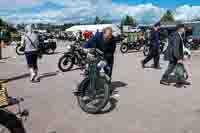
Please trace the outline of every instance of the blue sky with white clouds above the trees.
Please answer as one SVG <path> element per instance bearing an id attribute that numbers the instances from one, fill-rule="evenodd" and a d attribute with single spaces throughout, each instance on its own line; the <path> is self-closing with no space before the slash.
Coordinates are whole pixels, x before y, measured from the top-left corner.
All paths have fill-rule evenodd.
<path id="1" fill-rule="evenodd" d="M 0 16 L 12 23 L 90 22 L 95 16 L 118 21 L 126 14 L 154 23 L 167 9 L 177 20 L 200 18 L 199 0 L 1 0 Z"/>

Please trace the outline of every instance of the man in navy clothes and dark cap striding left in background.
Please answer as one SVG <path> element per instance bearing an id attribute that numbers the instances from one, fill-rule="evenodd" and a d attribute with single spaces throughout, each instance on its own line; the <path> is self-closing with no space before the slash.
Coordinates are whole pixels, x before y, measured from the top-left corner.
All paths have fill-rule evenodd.
<path id="1" fill-rule="evenodd" d="M 156 23 L 151 31 L 150 35 L 150 49 L 148 56 L 141 62 L 142 67 L 145 68 L 145 64 L 154 59 L 153 67 L 160 68 L 160 22 Z"/>

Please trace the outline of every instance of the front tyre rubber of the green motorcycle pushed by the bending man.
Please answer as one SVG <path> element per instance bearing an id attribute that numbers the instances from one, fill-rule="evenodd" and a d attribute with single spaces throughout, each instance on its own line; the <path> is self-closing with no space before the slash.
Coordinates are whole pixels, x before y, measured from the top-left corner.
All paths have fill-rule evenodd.
<path id="1" fill-rule="evenodd" d="M 110 99 L 110 86 L 109 83 L 106 81 L 105 78 L 101 77 L 99 78 L 99 85 L 101 85 L 103 88 L 99 89 L 98 91 L 101 92 L 102 94 L 104 94 L 102 101 L 98 102 L 98 106 L 94 105 L 95 107 L 89 107 L 83 98 L 85 96 L 87 96 L 89 93 L 88 92 L 88 86 L 89 86 L 89 79 L 85 78 L 81 84 L 78 87 L 78 92 L 79 95 L 77 95 L 77 101 L 78 101 L 78 105 L 80 106 L 80 108 L 89 114 L 97 114 L 99 113 L 108 103 L 109 99 Z M 99 86 L 97 85 L 97 86 Z"/>

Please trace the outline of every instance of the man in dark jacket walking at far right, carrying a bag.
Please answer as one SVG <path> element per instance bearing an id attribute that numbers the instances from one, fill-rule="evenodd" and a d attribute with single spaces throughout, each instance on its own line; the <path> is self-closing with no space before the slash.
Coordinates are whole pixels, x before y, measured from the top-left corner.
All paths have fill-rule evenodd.
<path id="1" fill-rule="evenodd" d="M 169 61 L 169 65 L 167 70 L 162 76 L 160 84 L 169 85 L 171 82 L 175 82 L 178 84 L 190 85 L 189 82 L 185 80 L 181 81 L 170 81 L 170 74 L 174 71 L 176 65 L 178 63 L 183 64 L 184 59 L 184 52 L 183 52 L 183 45 L 184 40 L 182 35 L 185 32 L 184 24 L 178 24 L 176 26 L 176 32 L 170 35 L 169 37 L 169 44 L 164 53 L 165 59 Z"/>

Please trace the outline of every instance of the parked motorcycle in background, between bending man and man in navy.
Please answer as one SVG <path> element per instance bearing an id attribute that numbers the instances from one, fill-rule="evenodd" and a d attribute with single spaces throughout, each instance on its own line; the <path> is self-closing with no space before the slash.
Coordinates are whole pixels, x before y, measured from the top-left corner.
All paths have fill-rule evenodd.
<path id="1" fill-rule="evenodd" d="M 139 51 L 145 44 L 145 40 L 141 39 L 141 40 L 137 40 L 134 42 L 127 42 L 127 41 L 123 41 L 122 45 L 120 46 L 120 51 L 124 54 L 127 53 L 128 50 L 137 50 Z"/>

